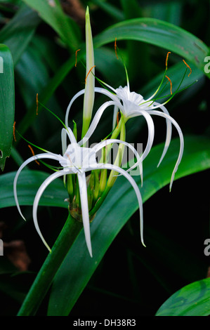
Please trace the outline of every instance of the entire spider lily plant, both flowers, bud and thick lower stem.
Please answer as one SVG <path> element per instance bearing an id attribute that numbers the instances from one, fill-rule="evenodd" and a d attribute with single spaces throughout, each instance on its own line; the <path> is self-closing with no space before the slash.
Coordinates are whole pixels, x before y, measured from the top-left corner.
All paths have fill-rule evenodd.
<path id="1" fill-rule="evenodd" d="M 166 70 L 168 55 L 166 57 Z M 160 89 L 162 88 L 162 90 L 164 90 L 165 78 L 167 79 L 167 83 L 170 82 L 171 84 L 171 80 L 166 76 L 166 70 L 161 84 L 157 88 L 157 91 L 150 98 L 145 100 L 142 95 L 130 90 L 127 72 L 127 84 L 124 87 L 119 86 L 115 89 L 105 84 L 103 81 L 100 81 L 99 79 L 98 81 L 100 81 L 100 84 L 103 84 L 103 88 L 96 87 L 94 67 L 93 40 L 87 8 L 86 84 L 83 90 L 74 95 L 67 107 L 65 124 L 62 122 L 63 128 L 61 130 L 61 154 L 55 154 L 48 150 L 39 148 L 42 150 L 42 152 L 37 155 L 34 154 L 32 157 L 27 159 L 20 166 L 20 169 L 18 169 L 14 180 L 15 202 L 18 206 L 20 215 L 25 219 L 22 211 L 20 211 L 20 206 L 18 203 L 17 190 L 18 177 L 20 172 L 25 168 L 25 166 L 27 166 L 27 164 L 31 163 L 32 161 L 39 160 L 43 162 L 43 159 L 52 159 L 58 163 L 58 167 L 49 166 L 47 164 L 48 167 L 51 167 L 54 173 L 48 176 L 44 183 L 40 185 L 39 190 L 37 191 L 37 194 L 34 198 L 32 211 L 35 228 L 50 253 L 48 253 L 48 256 L 41 270 L 39 271 L 34 284 L 32 284 L 29 293 L 27 293 L 27 297 L 25 298 L 25 301 L 22 304 L 18 315 L 31 315 L 34 312 L 34 309 L 39 306 L 40 301 L 44 298 L 44 295 L 48 291 L 48 288 L 51 285 L 56 272 L 60 268 L 61 263 L 63 263 L 67 252 L 70 250 L 72 244 L 74 244 L 77 235 L 79 235 L 81 228 L 84 228 L 84 239 L 88 253 L 91 257 L 94 256 L 94 251 L 92 251 L 91 244 L 90 222 L 94 219 L 94 216 L 100 208 L 100 205 L 105 200 L 108 192 L 110 192 L 110 189 L 114 185 L 115 180 L 117 180 L 117 176 L 124 176 L 126 180 L 129 180 L 129 183 L 131 184 L 131 187 L 133 187 L 133 190 L 136 194 L 140 211 L 140 239 L 142 244 L 145 245 L 143 239 L 143 202 L 141 199 L 140 188 L 136 184 L 136 181 L 133 179 L 131 174 L 133 169 L 138 168 L 139 174 L 141 176 L 141 184 L 143 185 L 142 164 L 143 160 L 145 157 L 147 157 L 151 150 L 155 135 L 155 125 L 152 120 L 152 115 L 163 117 L 166 120 L 166 142 L 162 156 L 159 160 L 159 164 L 161 163 L 166 154 L 166 151 L 169 148 L 172 125 L 176 127 L 180 138 L 180 152 L 178 154 L 178 159 L 171 175 L 170 189 L 173 183 L 173 178 L 178 169 L 178 164 L 180 164 L 183 155 L 184 141 L 181 128 L 166 110 L 166 102 L 162 104 L 157 102 L 157 100 L 159 100 Z M 181 84 L 178 86 L 174 93 L 169 95 L 167 102 L 171 100 L 173 95 L 176 95 L 178 91 L 182 90 L 179 89 L 180 87 Z M 109 100 L 100 105 L 95 115 L 93 116 L 92 113 L 95 93 L 102 93 L 103 95 L 106 95 Z M 68 123 L 72 104 L 80 95 L 84 95 L 81 140 L 77 139 L 77 125 L 74 123 L 74 129 L 72 130 Z M 112 133 L 109 134 L 110 132 L 107 132 L 106 137 L 102 141 L 89 147 L 89 139 L 94 137 L 96 127 L 98 124 L 100 124 L 100 118 L 102 117 L 107 107 L 110 106 L 114 107 Z M 126 122 L 129 121 L 129 119 L 138 116 L 141 116 L 145 119 L 148 128 L 147 143 L 142 154 L 138 154 L 134 147 L 126 142 Z M 117 154 L 113 161 L 112 159 L 110 161 L 109 157 L 111 154 L 111 148 L 115 144 L 117 144 L 118 147 Z M 36 147 L 36 145 L 34 146 Z M 134 159 L 136 159 L 135 164 L 132 164 L 131 167 L 127 166 L 129 169 L 126 170 L 122 168 L 122 157 L 125 147 L 128 147 L 129 150 L 133 152 L 135 157 Z M 101 154 L 98 155 L 98 152 L 101 152 Z M 37 208 L 39 205 L 39 200 L 41 199 L 42 194 L 44 194 L 46 187 L 48 187 L 48 185 L 50 185 L 53 180 L 60 177 L 63 177 L 64 185 L 67 188 L 67 195 L 69 197 L 67 199 L 69 202 L 69 212 L 63 230 L 60 232 L 58 239 L 56 239 L 55 244 L 53 244 L 53 247 L 51 248 L 46 242 L 46 239 L 44 239 L 44 236 L 42 235 L 39 228 Z"/>

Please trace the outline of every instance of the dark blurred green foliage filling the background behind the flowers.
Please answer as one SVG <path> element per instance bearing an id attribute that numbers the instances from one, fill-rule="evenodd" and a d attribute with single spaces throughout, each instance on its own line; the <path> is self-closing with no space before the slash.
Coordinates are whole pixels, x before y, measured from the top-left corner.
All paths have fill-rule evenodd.
<path id="1" fill-rule="evenodd" d="M 36 95 L 38 93 L 41 103 L 64 119 L 70 99 L 84 88 L 85 69 L 79 61 L 85 60 L 87 5 L 96 46 L 96 75 L 107 84 L 114 88 L 126 84 L 124 65 L 114 54 L 115 37 L 126 62 L 131 90 L 145 96 L 152 94 L 162 79 L 167 51 L 171 51 L 168 72 L 173 86 L 177 86 L 183 77 L 183 58 L 192 68 L 185 85 L 198 80 L 167 105 L 183 135 L 192 137 L 190 150 L 195 147 L 200 152 L 197 173 L 188 176 L 190 171 L 187 171 L 184 178 L 176 180 L 170 194 L 168 187 L 163 187 L 145 202 L 147 249 L 140 246 L 138 213 L 133 207 L 130 220 L 101 258 L 86 288 L 81 289 L 81 296 L 70 314 L 155 315 L 175 291 L 207 277 L 210 266 L 209 257 L 204 255 L 204 240 L 210 235 L 209 192 L 206 192 L 209 184 L 210 83 L 208 72 L 204 72 L 204 58 L 209 55 L 210 45 L 210 4 L 208 0 L 1 0 L 0 43 L 8 46 L 13 56 L 16 126 L 27 140 L 56 153 L 61 152 L 60 122 L 41 107 L 37 116 Z M 133 25 L 136 22 L 133 19 L 140 20 Z M 132 25 L 129 22 L 127 26 L 125 22 L 129 20 L 132 20 Z M 139 27 L 142 29 L 136 32 Z M 75 67 L 78 48 L 81 51 Z M 105 99 L 96 96 L 95 110 Z M 70 116 L 77 122 L 79 134 L 82 107 L 81 98 L 72 107 Z M 158 147 L 165 138 L 165 123 L 159 119 L 155 119 L 155 123 L 155 144 Z M 73 123 L 69 124 L 72 128 Z M 147 127 L 144 121 L 131 119 L 128 124 L 128 142 L 145 143 Z M 104 115 L 96 131 L 97 141 L 93 142 L 107 136 L 107 128 L 112 130 L 112 118 Z M 4 301 L 0 315 L 16 315 L 47 253 L 34 230 L 31 202 L 23 203 L 29 219 L 27 223 L 23 223 L 18 211 L 12 207 L 9 190 L 12 173 L 31 155 L 27 143 L 18 136 L 16 140 L 0 178 L 0 238 L 7 244 L 5 256 L 0 257 L 0 293 L 1 301 Z M 189 167 L 193 157 L 189 159 Z M 48 172 L 36 163 L 30 169 L 36 173 Z M 164 167 L 160 175 L 164 178 Z M 36 182 L 33 184 L 35 187 Z M 2 191 L 4 185 L 8 185 L 8 192 Z M 58 186 L 56 189 L 63 196 L 60 183 Z M 26 190 L 23 192 L 27 195 Z M 8 197 L 5 204 L 4 194 Z M 52 209 L 49 207 L 50 199 L 42 204 L 46 207 L 40 206 L 39 218 L 45 235 L 53 244 L 63 227 L 66 209 L 58 207 L 62 206 L 59 203 Z M 115 208 L 117 214 L 117 205 Z M 26 250 L 13 247 L 11 243 L 17 240 L 24 242 Z M 38 315 L 46 315 L 48 299 L 49 296 L 42 303 Z"/>

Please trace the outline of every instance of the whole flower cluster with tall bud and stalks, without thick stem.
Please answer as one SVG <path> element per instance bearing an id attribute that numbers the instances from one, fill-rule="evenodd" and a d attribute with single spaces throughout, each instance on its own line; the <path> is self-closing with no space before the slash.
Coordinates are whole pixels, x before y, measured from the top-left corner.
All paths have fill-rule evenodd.
<path id="1" fill-rule="evenodd" d="M 166 70 L 168 63 L 169 53 L 166 57 Z M 185 63 L 186 64 L 186 63 Z M 129 174 L 131 170 L 135 167 L 139 167 L 141 181 L 143 183 L 143 170 L 142 170 L 142 162 L 147 154 L 149 154 L 153 140 L 155 135 L 155 126 L 152 120 L 152 115 L 164 117 L 166 120 L 166 142 L 164 145 L 164 150 L 162 152 L 162 157 L 159 160 L 159 164 L 164 158 L 166 151 L 168 150 L 170 141 L 171 141 L 171 126 L 176 127 L 178 131 L 178 135 L 180 138 L 180 152 L 178 154 L 178 159 L 176 161 L 176 165 L 173 169 L 173 173 L 171 175 L 171 185 L 173 183 L 173 179 L 175 173 L 178 169 L 178 164 L 181 162 L 181 158 L 183 155 L 184 141 L 183 141 L 183 133 L 181 128 L 178 126 L 177 122 L 169 115 L 169 112 L 166 110 L 164 105 L 171 100 L 173 95 L 178 93 L 181 84 L 178 86 L 178 89 L 175 93 L 169 95 L 169 99 L 165 103 L 157 103 L 157 99 L 159 98 L 159 90 L 164 83 L 164 79 L 167 78 L 167 83 L 170 82 L 171 79 L 166 76 L 166 70 L 164 73 L 164 77 L 162 79 L 161 84 L 157 88 L 157 91 L 147 100 L 143 98 L 142 95 L 131 92 L 129 85 L 129 78 L 126 72 L 127 85 L 119 88 L 112 88 L 111 86 L 103 83 L 100 83 L 105 86 L 105 88 L 95 87 L 95 72 L 94 72 L 94 53 L 93 53 L 93 40 L 91 35 L 91 24 L 88 13 L 88 8 L 86 11 L 86 86 L 84 90 L 79 91 L 72 100 L 70 101 L 69 106 L 67 107 L 67 112 L 65 116 L 65 124 L 63 124 L 64 128 L 61 132 L 61 140 L 62 140 L 62 154 L 54 154 L 53 152 L 48 152 L 47 150 L 43 150 L 44 153 L 34 155 L 25 161 L 20 169 L 18 170 L 15 180 L 14 180 L 14 195 L 15 202 L 18 206 L 18 211 L 22 218 L 22 212 L 20 211 L 20 206 L 18 204 L 18 194 L 17 194 L 17 181 L 20 171 L 29 164 L 31 161 L 37 161 L 37 159 L 53 159 L 58 161 L 60 167 L 55 169 L 55 173 L 51 174 L 44 183 L 41 184 L 39 190 L 37 192 L 36 197 L 34 198 L 33 205 L 33 219 L 34 225 L 41 237 L 42 241 L 46 245 L 47 249 L 51 251 L 50 246 L 46 243 L 43 235 L 41 234 L 41 230 L 39 229 L 38 221 L 37 221 L 37 207 L 39 204 L 39 199 L 41 195 L 44 193 L 46 187 L 53 181 L 55 178 L 59 178 L 60 176 L 64 177 L 64 183 L 67 187 L 67 192 L 69 195 L 69 210 L 72 218 L 81 221 L 84 227 L 84 236 L 86 239 L 86 245 L 88 247 L 88 251 L 90 256 L 93 255 L 92 247 L 91 247 L 91 231 L 90 231 L 90 221 L 93 220 L 96 211 L 103 203 L 107 193 L 110 191 L 112 186 L 114 185 L 115 180 L 118 175 L 124 176 L 136 192 L 136 197 L 138 199 L 138 206 L 140 210 L 140 238 L 141 242 L 143 241 L 143 205 L 142 199 L 140 195 L 140 190 L 136 185 L 135 180 L 133 180 L 132 176 Z M 187 67 L 189 67 L 187 65 Z M 188 69 L 188 68 L 187 68 Z M 184 75 L 185 76 L 185 75 Z M 183 77 L 184 78 L 184 77 Z M 183 79 L 182 79 L 183 81 Z M 182 83 L 181 81 L 181 83 Z M 108 90 L 108 89 L 109 90 Z M 171 84 L 172 88 L 172 84 Z M 103 93 L 110 100 L 107 100 L 103 105 L 101 105 L 96 111 L 95 116 L 92 119 L 93 112 L 93 104 L 94 104 L 94 96 L 95 92 Z M 72 103 L 76 100 L 80 95 L 84 94 L 84 110 L 83 110 L 83 126 L 81 133 L 81 140 L 77 141 L 77 126 L 74 125 L 74 131 L 68 125 L 68 117 L 70 115 L 70 109 L 72 107 Z M 114 106 L 114 116 L 113 116 L 113 127 L 111 138 L 105 138 L 100 143 L 97 143 L 93 147 L 88 147 L 87 143 L 89 138 L 93 136 L 93 133 L 98 126 L 100 118 L 103 115 L 103 112 L 107 109 L 107 107 Z M 118 117 L 120 114 L 120 120 Z M 145 118 L 147 122 L 148 128 L 148 138 L 147 145 L 143 154 L 139 155 L 138 152 L 133 148 L 133 146 L 129 143 L 126 143 L 126 128 L 125 124 L 130 118 L 142 116 Z M 108 132 L 107 132 L 108 133 Z M 117 139 L 119 137 L 119 139 Z M 114 164 L 108 161 L 110 148 L 114 143 L 119 144 L 117 155 L 114 159 Z M 137 161 L 133 166 L 131 166 L 126 171 L 122 169 L 122 155 L 124 153 L 124 147 L 129 147 L 129 149 L 133 152 Z M 97 161 L 97 152 L 102 150 L 102 157 Z M 158 164 L 158 166 L 159 166 Z M 88 175 L 87 175 L 88 173 Z"/>

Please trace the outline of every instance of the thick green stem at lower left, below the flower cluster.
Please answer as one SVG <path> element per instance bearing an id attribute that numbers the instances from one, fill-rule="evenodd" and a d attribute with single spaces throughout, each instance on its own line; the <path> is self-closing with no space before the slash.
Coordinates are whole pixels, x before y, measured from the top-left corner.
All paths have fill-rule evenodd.
<path id="1" fill-rule="evenodd" d="M 34 283 L 27 293 L 25 301 L 22 303 L 18 316 L 35 315 L 41 301 L 44 299 L 44 296 L 53 282 L 58 268 L 60 268 L 67 252 L 79 235 L 81 228 L 82 223 L 72 218 L 69 213 L 63 230 L 61 230 L 58 239 L 56 239 L 51 253 L 46 257 L 41 270 L 39 270 Z"/>

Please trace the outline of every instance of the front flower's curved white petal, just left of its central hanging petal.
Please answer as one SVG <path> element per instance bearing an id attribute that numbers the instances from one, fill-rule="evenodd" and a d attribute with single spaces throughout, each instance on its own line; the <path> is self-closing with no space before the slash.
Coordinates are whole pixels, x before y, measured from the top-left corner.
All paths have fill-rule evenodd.
<path id="1" fill-rule="evenodd" d="M 62 170 L 62 171 L 51 174 L 51 176 L 49 176 L 46 180 L 44 180 L 44 183 L 41 184 L 41 186 L 39 187 L 39 190 L 37 191 L 36 197 L 34 198 L 34 205 L 33 205 L 34 225 L 35 225 L 35 228 L 36 228 L 39 236 L 41 237 L 42 242 L 44 243 L 44 245 L 50 252 L 51 252 L 51 248 L 46 243 L 46 240 L 44 239 L 43 235 L 41 234 L 41 230 L 39 229 L 38 220 L 37 220 L 37 208 L 38 208 L 38 204 L 39 204 L 39 199 L 41 198 L 41 195 L 43 194 L 46 187 L 48 187 L 48 185 L 53 180 L 55 180 L 56 178 L 59 178 L 60 176 L 65 175 L 66 173 L 67 173 L 66 171 Z M 69 173 L 72 173 L 72 171 L 69 171 Z"/>

